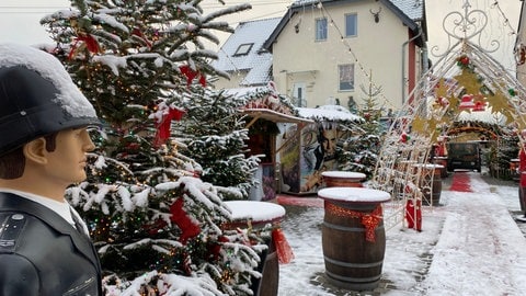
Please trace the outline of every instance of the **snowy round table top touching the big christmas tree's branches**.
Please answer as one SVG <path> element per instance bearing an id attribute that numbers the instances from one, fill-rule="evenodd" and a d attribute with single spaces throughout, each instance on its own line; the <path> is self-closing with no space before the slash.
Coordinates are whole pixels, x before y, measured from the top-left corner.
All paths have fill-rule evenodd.
<path id="1" fill-rule="evenodd" d="M 278 204 L 255 201 L 229 201 L 233 220 L 274 221 L 285 216 L 285 208 Z"/>

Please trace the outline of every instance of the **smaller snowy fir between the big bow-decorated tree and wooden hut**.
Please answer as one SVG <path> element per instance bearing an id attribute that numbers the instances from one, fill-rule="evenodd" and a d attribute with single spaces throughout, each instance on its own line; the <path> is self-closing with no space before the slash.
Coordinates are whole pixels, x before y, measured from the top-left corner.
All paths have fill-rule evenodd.
<path id="1" fill-rule="evenodd" d="M 195 88 L 192 98 L 184 101 L 184 122 L 174 125 L 175 135 L 185 144 L 184 153 L 203 167 L 203 181 L 242 192 L 242 196 L 225 200 L 247 200 L 255 185 L 260 158 L 247 148 L 249 129 L 240 113 L 245 104 L 247 99 L 225 90 Z"/>

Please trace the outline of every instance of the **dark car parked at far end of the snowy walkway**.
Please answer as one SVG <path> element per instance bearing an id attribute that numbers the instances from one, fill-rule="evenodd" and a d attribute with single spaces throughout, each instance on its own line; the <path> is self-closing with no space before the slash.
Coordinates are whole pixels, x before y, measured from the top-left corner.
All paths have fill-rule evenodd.
<path id="1" fill-rule="evenodd" d="M 477 170 L 480 172 L 481 157 L 479 143 L 447 144 L 447 170 L 454 171 L 456 169 Z"/>

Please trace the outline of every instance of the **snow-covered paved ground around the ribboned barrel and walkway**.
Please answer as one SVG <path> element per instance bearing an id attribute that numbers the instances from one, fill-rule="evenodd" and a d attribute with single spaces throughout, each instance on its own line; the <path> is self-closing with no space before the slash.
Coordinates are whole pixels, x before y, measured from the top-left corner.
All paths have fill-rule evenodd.
<path id="1" fill-rule="evenodd" d="M 424 210 L 422 232 L 401 227 L 387 231 L 381 281 L 371 292 L 327 283 L 320 200 L 301 197 L 310 205 L 284 205 L 282 227 L 295 260 L 279 266 L 279 296 L 526 295 L 526 239 L 521 230 L 526 224 L 514 220 L 517 184 L 468 173 L 473 192 L 449 191 L 451 177 L 444 180 L 441 206 Z"/>

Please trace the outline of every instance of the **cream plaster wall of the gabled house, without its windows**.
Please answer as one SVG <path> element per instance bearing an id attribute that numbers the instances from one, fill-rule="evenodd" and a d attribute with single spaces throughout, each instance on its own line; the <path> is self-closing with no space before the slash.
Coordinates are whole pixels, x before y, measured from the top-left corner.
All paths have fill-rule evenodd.
<path id="1" fill-rule="evenodd" d="M 376 23 L 370 11 L 377 12 L 380 8 Z M 302 83 L 308 107 L 333 103 L 334 99 L 347 106 L 350 96 L 363 106 L 368 94 L 361 86 L 368 90 L 371 78 L 373 83 L 382 89 L 381 95 L 376 96 L 378 104 L 386 112 L 400 109 L 404 100 L 402 93 L 408 94 L 407 89 L 402 92 L 402 83 L 404 88 L 408 86 L 408 66 L 402 77 L 402 47 L 409 39 L 408 27 L 377 1 L 325 5 L 325 10 L 309 7 L 293 15 L 273 45 L 273 76 L 278 91 L 294 96 L 296 86 Z M 353 13 L 357 15 L 357 34 L 342 39 L 344 15 Z M 328 37 L 316 41 L 316 20 L 321 18 L 328 19 Z M 408 64 L 408 46 L 403 49 Z M 341 91 L 339 66 L 348 64 L 354 65 L 354 90 Z M 415 68 L 420 68 L 420 61 Z"/>

